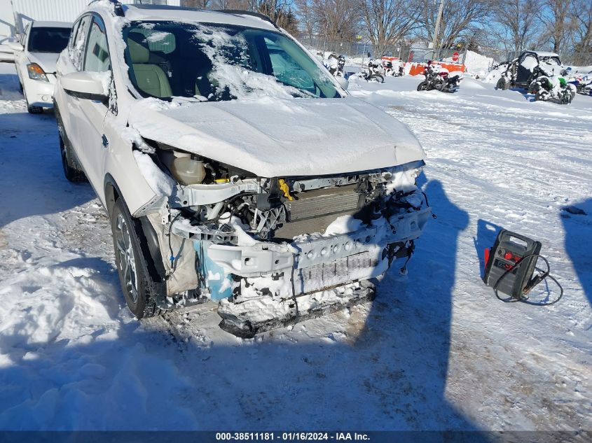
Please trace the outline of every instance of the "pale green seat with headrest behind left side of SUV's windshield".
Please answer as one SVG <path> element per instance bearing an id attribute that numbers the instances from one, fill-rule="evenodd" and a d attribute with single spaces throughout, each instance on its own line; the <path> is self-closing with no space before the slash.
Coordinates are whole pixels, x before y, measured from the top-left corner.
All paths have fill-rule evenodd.
<path id="1" fill-rule="evenodd" d="M 169 79 L 158 64 L 149 63 L 150 50 L 132 38 L 128 38 L 128 50 L 134 71 L 135 86 L 152 97 L 170 97 L 172 91 Z"/>

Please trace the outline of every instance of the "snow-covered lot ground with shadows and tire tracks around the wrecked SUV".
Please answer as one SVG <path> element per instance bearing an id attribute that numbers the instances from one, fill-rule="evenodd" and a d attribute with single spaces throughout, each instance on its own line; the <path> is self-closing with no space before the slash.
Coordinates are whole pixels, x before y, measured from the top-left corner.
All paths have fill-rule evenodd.
<path id="1" fill-rule="evenodd" d="M 214 304 L 130 316 L 104 211 L 63 178 L 53 113 L 27 114 L 0 64 L 0 429 L 591 429 L 592 97 L 420 80 L 350 83 L 429 156 L 438 218 L 408 276 L 242 340 Z M 497 227 L 543 242 L 563 300 L 504 304 L 483 285 Z"/>

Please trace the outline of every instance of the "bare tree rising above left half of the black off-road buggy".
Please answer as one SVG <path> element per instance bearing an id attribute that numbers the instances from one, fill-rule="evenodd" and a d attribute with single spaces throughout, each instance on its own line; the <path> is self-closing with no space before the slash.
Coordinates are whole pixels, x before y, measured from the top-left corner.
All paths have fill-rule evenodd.
<path id="1" fill-rule="evenodd" d="M 537 12 L 540 4 L 537 0 L 495 1 L 492 13 L 495 24 L 494 34 L 506 46 L 506 50 L 515 54 L 528 49 L 539 31 Z"/>

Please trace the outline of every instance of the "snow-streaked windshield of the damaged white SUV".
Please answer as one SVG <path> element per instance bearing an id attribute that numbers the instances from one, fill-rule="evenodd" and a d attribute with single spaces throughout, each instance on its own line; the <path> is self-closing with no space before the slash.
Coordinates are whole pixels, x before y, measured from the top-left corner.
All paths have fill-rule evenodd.
<path id="1" fill-rule="evenodd" d="M 327 71 L 291 38 L 274 31 L 132 22 L 123 38 L 130 80 L 144 97 L 341 97 Z"/>

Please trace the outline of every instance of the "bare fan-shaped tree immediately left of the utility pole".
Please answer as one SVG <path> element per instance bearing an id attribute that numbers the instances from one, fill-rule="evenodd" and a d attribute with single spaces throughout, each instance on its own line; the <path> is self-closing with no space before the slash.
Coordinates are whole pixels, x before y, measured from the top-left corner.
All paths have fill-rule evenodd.
<path id="1" fill-rule="evenodd" d="M 420 12 L 420 2 L 414 0 L 362 0 L 366 31 L 376 55 L 401 41 L 416 26 Z"/>

